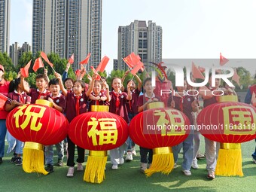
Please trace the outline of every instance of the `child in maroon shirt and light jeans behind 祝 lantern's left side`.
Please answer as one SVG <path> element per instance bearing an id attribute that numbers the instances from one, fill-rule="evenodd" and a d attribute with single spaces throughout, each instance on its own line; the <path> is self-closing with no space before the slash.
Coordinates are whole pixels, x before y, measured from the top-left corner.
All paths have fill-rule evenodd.
<path id="1" fill-rule="evenodd" d="M 25 87 L 29 87 L 28 82 L 24 81 L 24 83 Z M 10 98 L 12 101 L 8 100 L 6 102 L 6 111 L 11 111 L 17 106 L 30 104 L 31 97 L 28 96 L 21 88 L 20 78 L 16 78 L 14 81 L 11 81 L 9 91 L 10 93 L 8 93 L 8 98 Z M 7 153 L 14 151 L 14 156 L 11 158 L 11 163 L 21 166 L 23 164 L 21 155 L 23 154 L 24 143 L 18 139 L 15 139 L 14 136 L 11 136 L 9 132 L 7 132 L 7 140 L 9 144 Z"/>

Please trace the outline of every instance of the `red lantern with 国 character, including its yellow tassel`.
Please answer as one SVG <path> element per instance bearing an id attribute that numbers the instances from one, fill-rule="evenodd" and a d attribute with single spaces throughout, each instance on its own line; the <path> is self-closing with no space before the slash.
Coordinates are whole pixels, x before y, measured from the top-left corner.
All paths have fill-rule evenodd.
<path id="1" fill-rule="evenodd" d="M 207 106 L 198 114 L 200 133 L 221 142 L 216 175 L 243 175 L 240 143 L 256 138 L 255 111 L 253 106 L 237 102 L 236 96 L 221 96 L 218 103 Z"/>

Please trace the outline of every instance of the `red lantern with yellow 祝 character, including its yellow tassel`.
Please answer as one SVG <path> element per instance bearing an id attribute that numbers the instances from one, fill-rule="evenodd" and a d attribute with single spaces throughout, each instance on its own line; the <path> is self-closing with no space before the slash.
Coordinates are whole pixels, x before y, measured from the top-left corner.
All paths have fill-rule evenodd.
<path id="1" fill-rule="evenodd" d="M 23 150 L 23 169 L 25 172 L 41 172 L 44 170 L 44 151 L 42 145 L 54 145 L 66 138 L 69 122 L 66 117 L 54 108 L 50 108 L 51 103 L 38 99 L 37 104 L 23 105 L 14 108 L 7 117 L 6 126 L 12 136 L 22 142 L 26 142 Z M 32 154 L 26 154 L 27 148 L 33 148 L 38 153 L 38 158 L 42 153 L 42 166 L 33 168 Z M 30 151 L 29 153 L 32 153 Z M 33 151 L 35 154 L 35 151 Z M 38 159 L 38 161 L 40 161 Z M 38 163 L 40 164 L 40 163 Z M 36 167 L 36 166 L 35 166 Z"/>

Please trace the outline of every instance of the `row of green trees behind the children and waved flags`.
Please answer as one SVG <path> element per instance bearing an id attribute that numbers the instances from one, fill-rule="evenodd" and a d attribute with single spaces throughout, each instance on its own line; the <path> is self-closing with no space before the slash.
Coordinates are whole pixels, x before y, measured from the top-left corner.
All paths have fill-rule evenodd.
<path id="1" fill-rule="evenodd" d="M 20 71 L 20 68 L 23 68 L 24 66 L 26 66 L 26 64 L 29 62 L 30 59 L 32 59 L 32 63 L 35 62 L 35 59 L 37 59 L 40 56 L 40 52 L 36 53 L 35 56 L 32 56 L 31 52 L 25 52 L 23 53 L 23 55 L 21 56 L 18 65 L 16 67 L 14 67 L 11 58 L 8 56 L 7 53 L 0 53 L 0 63 L 2 64 L 2 66 L 5 67 L 5 79 L 7 79 L 8 81 L 13 80 L 14 78 L 17 77 L 17 73 Z M 55 69 L 56 72 L 58 72 L 59 74 L 62 74 L 65 69 L 66 69 L 66 63 L 68 62 L 67 59 L 61 59 L 59 58 L 59 55 L 57 55 L 56 53 L 50 53 L 47 55 L 50 62 L 53 63 L 53 68 Z M 26 80 L 29 82 L 29 85 L 31 87 L 35 87 L 35 76 L 37 74 L 41 74 L 44 72 L 44 69 L 38 69 L 38 71 L 35 73 L 32 70 L 32 66 L 29 69 L 29 78 L 27 78 Z M 53 70 L 50 68 L 50 66 L 44 62 L 44 67 L 48 70 L 48 76 L 49 78 L 54 78 L 53 75 Z M 185 71 L 185 69 L 184 69 Z M 248 70 L 246 70 L 243 67 L 239 67 L 236 69 L 240 80 L 239 83 L 242 86 L 238 86 L 236 83 L 233 82 L 233 84 L 236 85 L 236 90 L 247 90 L 248 86 L 251 84 L 255 84 L 256 80 L 254 77 L 251 77 L 251 73 L 248 72 Z M 90 75 L 93 75 L 93 72 L 89 72 Z M 110 74 L 107 75 L 106 72 L 99 72 L 99 75 L 107 78 L 107 82 L 110 85 L 111 84 L 111 79 L 114 77 L 119 77 L 122 78 L 124 75 L 124 71 L 120 71 L 120 70 L 112 70 Z M 69 69 L 69 78 L 73 78 L 75 79 L 75 72 L 72 70 L 72 68 Z M 167 71 L 167 76 L 168 79 L 170 81 L 172 81 L 173 84 L 175 84 L 175 72 L 172 72 L 170 69 Z M 139 73 L 139 77 L 142 79 L 142 77 L 145 77 L 145 72 L 143 73 Z M 124 84 L 126 85 L 126 81 L 128 81 L 129 79 L 133 78 L 132 74 L 127 75 L 126 80 L 124 81 Z M 136 78 L 134 78 L 136 79 Z M 85 82 L 88 82 L 87 79 L 87 75 L 84 76 L 83 80 Z"/>

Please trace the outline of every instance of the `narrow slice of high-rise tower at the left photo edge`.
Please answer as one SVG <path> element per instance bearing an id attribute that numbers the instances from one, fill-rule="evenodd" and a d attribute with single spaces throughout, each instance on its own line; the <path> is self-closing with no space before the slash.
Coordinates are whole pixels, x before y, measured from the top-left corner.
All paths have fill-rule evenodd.
<path id="1" fill-rule="evenodd" d="M 9 53 L 11 0 L 0 0 L 0 52 Z"/>

